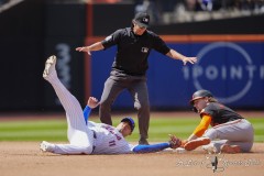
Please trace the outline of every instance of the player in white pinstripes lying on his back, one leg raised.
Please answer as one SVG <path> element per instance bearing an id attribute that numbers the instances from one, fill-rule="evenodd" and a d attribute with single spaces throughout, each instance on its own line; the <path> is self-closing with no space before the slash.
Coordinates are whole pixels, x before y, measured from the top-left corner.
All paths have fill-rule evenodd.
<path id="1" fill-rule="evenodd" d="M 99 105 L 98 100 L 90 97 L 82 112 L 77 99 L 58 79 L 55 65 L 56 56 L 48 57 L 43 77 L 53 86 L 66 111 L 69 144 L 52 144 L 43 141 L 41 143 L 42 151 L 56 154 L 125 154 L 157 152 L 167 147 L 176 148 L 180 145 L 180 140 L 176 136 L 170 136 L 169 142 L 165 143 L 130 145 L 124 138 L 134 130 L 135 124 L 132 118 L 122 119 L 117 128 L 88 121 L 91 109 Z"/>

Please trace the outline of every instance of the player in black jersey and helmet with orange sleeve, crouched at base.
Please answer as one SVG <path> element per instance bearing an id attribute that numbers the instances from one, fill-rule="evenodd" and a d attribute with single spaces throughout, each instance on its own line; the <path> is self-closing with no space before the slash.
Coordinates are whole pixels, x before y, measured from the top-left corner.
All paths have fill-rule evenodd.
<path id="1" fill-rule="evenodd" d="M 201 121 L 188 140 L 182 143 L 185 150 L 193 151 L 204 145 L 208 152 L 250 152 L 254 130 L 248 120 L 219 103 L 208 90 L 196 91 L 190 105 L 200 114 Z M 212 128 L 207 130 L 209 124 Z"/>

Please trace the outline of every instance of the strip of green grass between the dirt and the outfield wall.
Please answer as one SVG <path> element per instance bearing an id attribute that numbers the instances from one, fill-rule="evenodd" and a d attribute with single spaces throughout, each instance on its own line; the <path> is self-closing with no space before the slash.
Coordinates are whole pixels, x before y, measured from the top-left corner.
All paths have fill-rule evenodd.
<path id="1" fill-rule="evenodd" d="M 92 121 L 99 122 L 98 119 Z M 120 119 L 113 119 L 117 125 Z M 255 142 L 264 142 L 264 118 L 249 119 L 255 130 Z M 138 121 L 135 121 L 138 124 Z M 186 139 L 199 123 L 198 118 L 153 118 L 150 125 L 150 142 L 167 141 L 168 134 Z M 128 138 L 135 142 L 139 129 Z M 67 141 L 67 123 L 65 120 L 43 121 L 2 121 L 0 122 L 0 141 Z"/>

